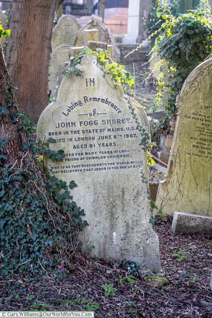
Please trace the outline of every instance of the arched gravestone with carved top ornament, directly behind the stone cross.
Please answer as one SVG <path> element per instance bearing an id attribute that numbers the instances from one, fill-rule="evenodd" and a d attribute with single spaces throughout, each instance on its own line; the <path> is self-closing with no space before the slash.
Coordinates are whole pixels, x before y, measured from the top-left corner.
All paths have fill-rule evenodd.
<path id="1" fill-rule="evenodd" d="M 95 21 L 96 22 L 96 21 Z M 113 56 L 115 59 L 120 59 L 120 51 L 116 47 L 115 39 L 113 38 L 113 34 L 103 23 L 95 23 L 94 21 L 88 22 L 83 25 L 77 35 L 74 46 L 85 46 L 84 42 L 84 33 L 85 30 L 98 29 L 99 30 L 99 41 L 105 42 L 109 45 L 113 45 Z"/>

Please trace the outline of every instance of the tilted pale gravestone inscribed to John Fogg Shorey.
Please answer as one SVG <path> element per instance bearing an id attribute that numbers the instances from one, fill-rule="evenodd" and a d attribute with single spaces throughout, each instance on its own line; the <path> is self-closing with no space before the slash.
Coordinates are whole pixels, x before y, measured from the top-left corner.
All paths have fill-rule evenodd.
<path id="1" fill-rule="evenodd" d="M 50 148 L 65 152 L 62 161 L 46 165 L 78 185 L 73 199 L 89 224 L 81 236 L 84 251 L 160 270 L 158 237 L 149 224 L 147 155 L 139 146 L 139 129 L 149 134 L 147 115 L 114 87 L 94 56 L 85 55 L 77 68 L 81 76 L 64 77 L 57 101 L 38 121 L 38 137 L 55 139 Z"/>

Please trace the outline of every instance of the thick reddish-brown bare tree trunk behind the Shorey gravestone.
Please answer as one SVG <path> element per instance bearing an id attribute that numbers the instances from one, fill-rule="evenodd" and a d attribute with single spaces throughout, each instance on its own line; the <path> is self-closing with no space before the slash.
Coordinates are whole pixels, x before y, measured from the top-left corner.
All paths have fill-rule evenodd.
<path id="1" fill-rule="evenodd" d="M 64 0 L 13 0 L 7 61 L 20 107 L 37 121 L 48 105 L 48 65 L 55 10 Z"/>

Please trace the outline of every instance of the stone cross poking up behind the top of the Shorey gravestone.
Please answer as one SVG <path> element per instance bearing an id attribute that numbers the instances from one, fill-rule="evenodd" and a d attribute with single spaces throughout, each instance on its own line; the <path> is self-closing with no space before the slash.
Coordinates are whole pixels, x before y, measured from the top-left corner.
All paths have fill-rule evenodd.
<path id="1" fill-rule="evenodd" d="M 113 58 L 113 45 L 109 45 L 105 42 L 99 42 L 99 30 L 85 30 L 84 41 L 85 46 L 70 47 L 69 58 L 76 55 L 78 52 L 82 52 L 86 46 L 88 46 L 92 51 L 95 51 L 97 48 L 107 50 L 110 52 L 111 58 Z"/>

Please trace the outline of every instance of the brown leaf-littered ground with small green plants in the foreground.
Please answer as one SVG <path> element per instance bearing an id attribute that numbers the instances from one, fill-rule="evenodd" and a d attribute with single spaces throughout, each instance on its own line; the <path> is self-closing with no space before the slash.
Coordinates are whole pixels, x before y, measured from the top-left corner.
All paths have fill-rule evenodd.
<path id="1" fill-rule="evenodd" d="M 71 268 L 36 282 L 21 274 L 9 285 L 0 279 L 0 310 L 94 310 L 94 317 L 99 318 L 211 318 L 212 235 L 174 235 L 169 218 L 159 220 L 156 232 L 162 273 L 168 279 L 163 288 L 148 286 L 138 274 L 130 284 L 124 279 L 126 266 L 76 254 Z M 180 256 L 184 257 L 181 261 Z M 113 284 L 114 294 L 105 296 L 103 284 Z"/>

